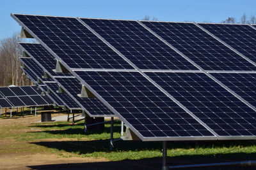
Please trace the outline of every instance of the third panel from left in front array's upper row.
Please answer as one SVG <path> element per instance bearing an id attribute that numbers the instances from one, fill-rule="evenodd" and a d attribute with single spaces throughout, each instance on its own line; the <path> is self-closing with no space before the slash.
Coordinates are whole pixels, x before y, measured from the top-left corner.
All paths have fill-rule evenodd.
<path id="1" fill-rule="evenodd" d="M 142 23 L 205 70 L 256 70 L 253 64 L 193 23 Z"/>

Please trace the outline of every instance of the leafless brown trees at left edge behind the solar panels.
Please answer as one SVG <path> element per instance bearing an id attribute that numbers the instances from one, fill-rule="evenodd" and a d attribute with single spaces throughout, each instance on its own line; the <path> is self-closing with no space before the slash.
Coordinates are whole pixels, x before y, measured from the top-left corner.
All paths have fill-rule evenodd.
<path id="1" fill-rule="evenodd" d="M 22 50 L 19 46 L 21 39 L 17 34 L 11 38 L 5 38 L 0 41 L 0 85 L 30 85 L 31 81 L 22 74 L 20 69 L 21 62 L 19 56 Z"/>

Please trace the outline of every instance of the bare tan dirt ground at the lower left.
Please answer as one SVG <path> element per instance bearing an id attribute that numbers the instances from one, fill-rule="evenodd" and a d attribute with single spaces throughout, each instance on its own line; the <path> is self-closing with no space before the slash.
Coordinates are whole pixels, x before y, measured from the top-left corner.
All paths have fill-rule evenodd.
<path id="1" fill-rule="evenodd" d="M 26 116 L 24 118 L 0 119 L 0 132 L 3 131 L 3 127 L 12 128 L 16 125 L 30 125 L 39 121 L 40 118 L 40 115 L 38 115 L 36 117 Z M 40 129 L 34 130 L 40 131 Z M 10 133 L 22 133 L 26 131 L 31 131 L 31 129 L 14 129 L 13 131 L 10 131 Z M 47 140 L 51 141 L 51 139 Z M 63 140 L 64 139 L 54 139 L 54 141 Z M 67 139 L 65 140 L 67 141 Z M 44 148 L 40 148 L 40 146 L 36 147 L 38 147 L 36 150 L 39 150 L 40 152 L 31 152 L 31 143 L 29 143 L 29 141 L 15 141 L 12 137 L 0 139 L 0 169 L 58 169 L 61 165 L 65 165 L 65 168 L 70 167 L 70 169 L 72 169 L 76 164 L 108 161 L 106 159 L 74 156 L 67 158 L 60 157 L 58 154 L 45 151 Z M 45 167 L 46 165 L 47 167 Z M 54 166 L 51 167 L 51 165 Z M 61 167 L 61 169 L 63 169 L 63 167 Z"/>

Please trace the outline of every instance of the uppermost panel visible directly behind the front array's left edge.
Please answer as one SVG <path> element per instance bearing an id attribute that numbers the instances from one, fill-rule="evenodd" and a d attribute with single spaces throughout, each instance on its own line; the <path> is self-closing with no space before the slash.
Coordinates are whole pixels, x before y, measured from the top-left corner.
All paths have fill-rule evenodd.
<path id="1" fill-rule="evenodd" d="M 38 43 L 20 43 L 30 57 L 41 64 L 52 76 L 71 76 L 70 73 L 55 73 L 56 59 Z"/>

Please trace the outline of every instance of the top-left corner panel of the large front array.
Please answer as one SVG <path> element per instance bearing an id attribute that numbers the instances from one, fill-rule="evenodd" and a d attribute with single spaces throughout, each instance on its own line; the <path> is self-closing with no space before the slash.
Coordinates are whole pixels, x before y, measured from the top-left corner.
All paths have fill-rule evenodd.
<path id="1" fill-rule="evenodd" d="M 14 16 L 71 68 L 133 69 L 76 18 Z"/>

